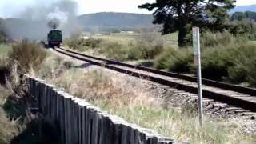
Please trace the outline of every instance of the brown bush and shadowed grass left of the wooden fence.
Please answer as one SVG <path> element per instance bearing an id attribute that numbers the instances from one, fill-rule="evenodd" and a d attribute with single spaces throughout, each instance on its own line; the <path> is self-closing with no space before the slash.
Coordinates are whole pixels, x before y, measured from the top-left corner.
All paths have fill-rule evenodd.
<path id="1" fill-rule="evenodd" d="M 46 52 L 36 43 L 0 46 L 0 143 L 60 143 L 52 122 L 26 110 L 32 101 L 22 93 L 23 70 L 37 71 Z M 19 64 L 19 66 L 18 66 Z M 35 66 L 37 65 L 37 66 Z M 31 66 L 31 69 L 26 67 Z M 7 71 L 10 73 L 6 73 Z M 7 74 L 7 75 L 5 75 Z M 5 81 L 5 82 L 3 82 Z M 33 115 L 32 117 L 30 117 Z"/>

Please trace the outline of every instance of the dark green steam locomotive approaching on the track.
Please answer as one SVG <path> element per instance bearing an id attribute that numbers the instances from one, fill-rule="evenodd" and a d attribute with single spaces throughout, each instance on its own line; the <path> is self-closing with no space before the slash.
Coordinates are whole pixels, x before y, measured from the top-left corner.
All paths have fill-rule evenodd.
<path id="1" fill-rule="evenodd" d="M 48 46 L 53 47 L 57 46 L 60 47 L 62 43 L 62 31 L 61 30 L 50 30 L 47 36 L 48 39 Z"/>

